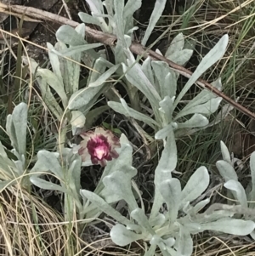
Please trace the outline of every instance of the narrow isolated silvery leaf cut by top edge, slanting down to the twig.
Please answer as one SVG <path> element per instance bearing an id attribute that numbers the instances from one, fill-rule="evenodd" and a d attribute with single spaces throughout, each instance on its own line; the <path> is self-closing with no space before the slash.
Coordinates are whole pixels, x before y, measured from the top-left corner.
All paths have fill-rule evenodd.
<path id="1" fill-rule="evenodd" d="M 142 45 L 145 45 L 150 37 L 151 32 L 154 30 L 154 27 L 156 26 L 157 20 L 160 19 L 161 14 L 163 10 L 165 9 L 167 0 L 156 0 L 154 9 L 152 14 L 150 15 L 150 22 L 149 25 L 147 26 L 147 29 L 144 33 L 144 38 L 142 40 Z"/>

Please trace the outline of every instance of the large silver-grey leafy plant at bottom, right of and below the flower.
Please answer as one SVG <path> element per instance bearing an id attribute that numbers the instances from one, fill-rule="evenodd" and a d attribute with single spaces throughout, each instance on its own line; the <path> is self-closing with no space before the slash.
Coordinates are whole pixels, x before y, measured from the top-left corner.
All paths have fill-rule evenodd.
<path id="1" fill-rule="evenodd" d="M 109 162 L 101 179 L 104 189 L 100 195 L 81 190 L 84 200 L 95 205 L 99 211 L 116 219 L 111 229 L 111 239 L 119 246 L 127 246 L 131 242 L 149 242 L 150 247 L 144 255 L 155 255 L 156 247 L 163 255 L 187 255 L 193 251 L 192 235 L 205 230 L 214 230 L 236 236 L 246 236 L 254 230 L 255 224 L 250 218 L 235 219 L 234 214 L 240 208 L 228 205 L 212 204 L 203 213 L 199 213 L 209 203 L 207 198 L 192 204 L 198 196 L 207 190 L 209 174 L 207 168 L 198 168 L 190 177 L 184 188 L 180 181 L 172 177 L 177 164 L 177 149 L 173 131 L 168 134 L 167 142 L 155 171 L 155 196 L 150 213 L 144 212 L 143 202 L 139 206 L 135 195 L 139 190 L 133 183 L 137 173 L 131 166 L 132 147 L 122 136 L 120 157 Z M 235 185 L 236 188 L 236 185 Z M 236 190 L 236 189 L 235 189 Z M 141 196 L 139 195 L 141 198 Z M 109 202 L 125 201 L 130 219 L 111 207 Z M 242 199 L 241 199 L 242 200 Z M 243 201 L 241 201 L 243 202 Z M 167 207 L 162 210 L 162 205 Z M 245 210 L 245 209 L 244 209 Z M 181 214 L 180 214 L 181 213 Z"/>

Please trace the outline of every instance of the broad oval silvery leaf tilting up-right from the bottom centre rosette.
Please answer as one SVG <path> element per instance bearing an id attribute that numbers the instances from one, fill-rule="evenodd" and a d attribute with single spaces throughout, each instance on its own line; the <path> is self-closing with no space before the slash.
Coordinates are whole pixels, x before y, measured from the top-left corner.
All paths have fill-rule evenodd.
<path id="1" fill-rule="evenodd" d="M 188 183 L 184 186 L 184 190 L 181 192 L 181 205 L 184 206 L 185 202 L 192 202 L 201 193 L 207 189 L 209 185 L 210 176 L 207 168 L 198 168 L 194 174 L 188 180 Z"/>

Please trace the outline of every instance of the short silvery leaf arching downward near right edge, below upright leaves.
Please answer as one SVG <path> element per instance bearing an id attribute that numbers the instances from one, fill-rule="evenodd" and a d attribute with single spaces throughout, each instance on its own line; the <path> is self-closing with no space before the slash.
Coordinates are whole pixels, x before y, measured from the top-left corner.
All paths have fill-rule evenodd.
<path id="1" fill-rule="evenodd" d="M 239 181 L 230 179 L 224 184 L 224 187 L 230 191 L 234 191 L 235 199 L 240 202 L 243 208 L 247 208 L 246 191 Z"/>

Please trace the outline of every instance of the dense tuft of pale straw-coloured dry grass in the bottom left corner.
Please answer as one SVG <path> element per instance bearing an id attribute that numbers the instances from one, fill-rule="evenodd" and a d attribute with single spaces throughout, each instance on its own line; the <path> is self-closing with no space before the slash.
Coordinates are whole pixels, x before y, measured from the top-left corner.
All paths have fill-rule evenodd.
<path id="1" fill-rule="evenodd" d="M 48 205 L 14 186 L 0 202 L 1 255 L 66 255 L 66 225 Z"/>

